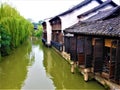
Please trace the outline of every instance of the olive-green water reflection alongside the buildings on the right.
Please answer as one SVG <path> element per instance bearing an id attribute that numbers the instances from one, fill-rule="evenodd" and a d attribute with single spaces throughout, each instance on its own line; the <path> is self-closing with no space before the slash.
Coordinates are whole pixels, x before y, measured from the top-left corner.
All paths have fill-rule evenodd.
<path id="1" fill-rule="evenodd" d="M 56 51 L 43 47 L 46 73 L 53 80 L 56 89 L 95 89 L 104 90 L 96 81 L 85 82 L 76 70 L 71 74 L 70 65 Z"/>

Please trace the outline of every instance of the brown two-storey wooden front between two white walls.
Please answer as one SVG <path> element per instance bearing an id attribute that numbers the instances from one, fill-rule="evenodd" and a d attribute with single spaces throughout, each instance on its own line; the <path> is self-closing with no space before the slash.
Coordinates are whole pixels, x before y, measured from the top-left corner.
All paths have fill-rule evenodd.
<path id="1" fill-rule="evenodd" d="M 52 45 L 62 51 L 63 49 L 63 33 L 61 30 L 61 19 L 59 17 L 55 17 L 50 21 L 52 27 Z"/>

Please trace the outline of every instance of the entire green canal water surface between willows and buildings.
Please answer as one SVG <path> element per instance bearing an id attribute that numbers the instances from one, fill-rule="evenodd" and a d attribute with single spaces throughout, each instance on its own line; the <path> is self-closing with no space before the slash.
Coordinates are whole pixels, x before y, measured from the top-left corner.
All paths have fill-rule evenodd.
<path id="1" fill-rule="evenodd" d="M 105 90 L 95 80 L 85 82 L 76 69 L 41 40 L 28 40 L 0 62 L 0 89 Z"/>

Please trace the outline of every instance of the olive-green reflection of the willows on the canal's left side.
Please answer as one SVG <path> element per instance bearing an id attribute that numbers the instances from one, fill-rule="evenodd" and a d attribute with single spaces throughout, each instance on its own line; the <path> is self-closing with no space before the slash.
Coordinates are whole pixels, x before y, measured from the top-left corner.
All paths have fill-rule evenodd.
<path id="1" fill-rule="evenodd" d="M 26 78 L 31 44 L 29 41 L 0 63 L 0 89 L 19 89 Z"/>

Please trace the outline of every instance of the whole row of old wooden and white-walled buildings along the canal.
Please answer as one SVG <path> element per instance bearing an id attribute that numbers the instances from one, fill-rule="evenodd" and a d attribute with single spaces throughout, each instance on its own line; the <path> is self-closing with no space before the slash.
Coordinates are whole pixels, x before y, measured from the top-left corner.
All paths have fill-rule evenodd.
<path id="1" fill-rule="evenodd" d="M 43 28 L 43 42 L 77 61 L 85 81 L 99 76 L 102 84 L 120 89 L 120 6 L 112 0 L 84 0 Z"/>

